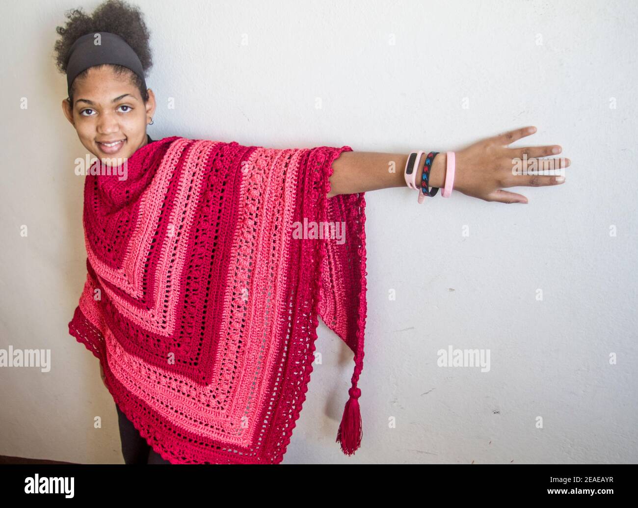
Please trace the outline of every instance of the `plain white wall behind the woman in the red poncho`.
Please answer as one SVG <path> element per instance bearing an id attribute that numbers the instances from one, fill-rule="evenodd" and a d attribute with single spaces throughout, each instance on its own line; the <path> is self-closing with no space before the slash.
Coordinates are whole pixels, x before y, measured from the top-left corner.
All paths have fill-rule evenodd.
<path id="1" fill-rule="evenodd" d="M 99 3 L 2 6 L 0 348 L 52 354 L 48 373 L 0 368 L 4 455 L 122 463 L 98 361 L 67 329 L 85 280 L 71 163 L 85 149 L 52 56 L 64 11 Z M 535 125 L 514 146 L 560 144 L 572 160 L 562 186 L 510 189 L 526 205 L 367 194 L 362 447 L 348 458 L 334 442 L 352 354 L 320 322 L 323 364 L 284 463 L 638 460 L 635 2 L 138 4 L 153 138 L 408 153 Z M 491 370 L 438 367 L 449 345 L 489 349 Z"/>

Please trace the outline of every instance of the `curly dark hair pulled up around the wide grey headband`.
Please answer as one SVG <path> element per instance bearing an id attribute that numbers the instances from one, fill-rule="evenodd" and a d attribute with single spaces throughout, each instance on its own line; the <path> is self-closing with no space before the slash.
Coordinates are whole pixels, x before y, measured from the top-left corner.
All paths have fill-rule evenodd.
<path id="1" fill-rule="evenodd" d="M 56 27 L 57 34 L 61 36 L 54 46 L 57 70 L 66 74 L 71 45 L 78 38 L 89 33 L 110 32 L 121 36 L 133 48 L 142 63 L 144 77 L 146 77 L 147 71 L 153 64 L 149 45 L 150 33 L 144 23 L 144 13 L 140 11 L 138 6 L 131 6 L 124 0 L 107 0 L 93 11 L 92 16 L 87 16 L 81 7 L 66 11 L 65 16 L 69 19 L 66 26 Z M 105 65 L 111 66 L 117 75 L 128 76 L 131 84 L 139 89 L 144 103 L 149 100 L 148 91 L 137 74 L 121 65 L 102 64 L 96 67 Z M 77 78 L 86 77 L 88 71 L 88 69 L 82 71 L 77 75 Z M 73 94 L 77 78 L 71 84 L 71 93 L 68 98 L 71 107 L 73 107 Z"/>

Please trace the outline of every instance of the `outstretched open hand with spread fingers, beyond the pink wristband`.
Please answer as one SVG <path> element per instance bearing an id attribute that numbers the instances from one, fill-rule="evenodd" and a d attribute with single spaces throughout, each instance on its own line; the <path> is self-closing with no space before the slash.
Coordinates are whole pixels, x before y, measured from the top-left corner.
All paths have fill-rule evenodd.
<path id="1" fill-rule="evenodd" d="M 481 140 L 455 154 L 456 166 L 454 190 L 465 195 L 486 201 L 501 203 L 527 203 L 522 194 L 501 190 L 502 187 L 559 185 L 565 181 L 554 176 L 542 175 L 542 170 L 568 167 L 571 163 L 566 158 L 541 159 L 556 155 L 552 149 L 562 148 L 557 145 L 508 148 L 507 145 L 536 132 L 533 126 L 508 131 L 498 136 Z M 526 154 L 526 158 L 524 158 Z M 445 158 L 445 153 L 439 156 Z M 436 159 L 435 159 L 436 161 Z M 535 166 L 534 166 L 535 165 Z M 515 174 L 514 169 L 519 168 Z M 523 174 L 523 168 L 528 174 Z M 533 169 L 537 174 L 529 174 Z M 441 189 L 442 190 L 442 189 Z"/>

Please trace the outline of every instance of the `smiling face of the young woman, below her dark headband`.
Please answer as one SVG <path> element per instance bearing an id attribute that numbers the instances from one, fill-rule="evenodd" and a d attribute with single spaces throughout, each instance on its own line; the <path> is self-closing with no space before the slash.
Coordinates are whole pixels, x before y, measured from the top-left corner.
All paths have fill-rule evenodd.
<path id="1" fill-rule="evenodd" d="M 75 80 L 73 109 L 66 99 L 62 108 L 82 145 L 108 165 L 109 158 L 129 158 L 147 144 L 146 126 L 155 112 L 155 96 L 148 92 L 144 104 L 126 75 L 109 65 L 92 67 L 87 77 Z"/>

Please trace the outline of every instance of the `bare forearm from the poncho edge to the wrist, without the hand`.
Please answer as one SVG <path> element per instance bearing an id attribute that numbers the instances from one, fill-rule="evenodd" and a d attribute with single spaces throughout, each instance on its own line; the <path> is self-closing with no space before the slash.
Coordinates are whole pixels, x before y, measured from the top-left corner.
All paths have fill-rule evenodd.
<path id="1" fill-rule="evenodd" d="M 415 182 L 421 185 L 427 152 L 417 167 Z M 391 187 L 405 187 L 403 171 L 409 153 L 343 152 L 332 163 L 330 192 L 328 197 L 339 194 L 355 194 Z M 443 187 L 445 183 L 445 153 L 434 158 L 429 175 L 430 187 Z"/>

